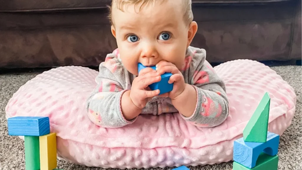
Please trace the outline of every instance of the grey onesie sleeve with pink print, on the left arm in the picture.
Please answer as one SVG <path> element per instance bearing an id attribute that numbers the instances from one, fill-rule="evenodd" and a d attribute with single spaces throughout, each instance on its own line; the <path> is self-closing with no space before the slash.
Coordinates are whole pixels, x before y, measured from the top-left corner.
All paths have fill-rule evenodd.
<path id="1" fill-rule="evenodd" d="M 121 111 L 121 97 L 130 89 L 130 75 L 124 69 L 116 54 L 108 54 L 99 65 L 95 78 L 95 89 L 88 97 L 86 108 L 89 119 L 98 126 L 107 128 L 122 127 L 133 123 L 128 121 Z"/>

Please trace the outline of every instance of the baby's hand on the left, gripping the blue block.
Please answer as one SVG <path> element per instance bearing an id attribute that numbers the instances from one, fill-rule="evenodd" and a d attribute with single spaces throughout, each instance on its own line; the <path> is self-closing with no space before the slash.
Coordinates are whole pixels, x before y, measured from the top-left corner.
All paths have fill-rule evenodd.
<path id="1" fill-rule="evenodd" d="M 146 67 L 140 71 L 138 77 L 134 78 L 130 90 L 130 99 L 139 109 L 143 109 L 147 102 L 154 96 L 159 94 L 159 90 L 151 91 L 148 87 L 152 83 L 161 80 L 160 74 L 150 67 Z"/>

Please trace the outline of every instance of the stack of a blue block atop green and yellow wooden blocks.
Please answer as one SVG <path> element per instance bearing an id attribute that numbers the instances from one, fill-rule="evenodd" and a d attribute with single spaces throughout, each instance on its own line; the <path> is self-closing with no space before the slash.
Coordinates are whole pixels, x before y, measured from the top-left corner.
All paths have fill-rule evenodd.
<path id="1" fill-rule="evenodd" d="M 7 122 L 8 135 L 24 136 L 26 170 L 56 168 L 56 133 L 50 133 L 49 117 L 12 117 Z"/>

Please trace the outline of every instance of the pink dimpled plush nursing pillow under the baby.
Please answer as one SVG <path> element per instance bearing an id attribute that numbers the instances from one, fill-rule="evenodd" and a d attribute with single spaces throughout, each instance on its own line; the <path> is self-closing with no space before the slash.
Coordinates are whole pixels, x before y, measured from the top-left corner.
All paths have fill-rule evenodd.
<path id="1" fill-rule="evenodd" d="M 58 67 L 37 75 L 14 93 L 6 116 L 49 116 L 57 133 L 60 159 L 103 168 L 204 165 L 233 158 L 233 141 L 242 137 L 265 92 L 271 96 L 269 131 L 281 135 L 295 113 L 294 89 L 269 67 L 234 60 L 214 68 L 226 83 L 230 114 L 214 128 L 186 123 L 178 113 L 142 115 L 129 126 L 106 129 L 88 119 L 85 102 L 98 72 Z"/>

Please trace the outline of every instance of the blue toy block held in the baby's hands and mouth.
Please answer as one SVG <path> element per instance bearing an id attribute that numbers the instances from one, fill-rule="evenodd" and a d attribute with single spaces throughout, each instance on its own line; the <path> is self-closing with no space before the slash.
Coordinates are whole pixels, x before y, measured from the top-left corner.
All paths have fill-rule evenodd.
<path id="1" fill-rule="evenodd" d="M 140 72 L 140 70 L 142 70 L 143 68 L 146 68 L 145 66 L 143 66 L 143 64 L 139 63 L 138 64 L 138 72 Z M 155 66 L 151 67 L 152 69 L 156 69 Z M 170 77 L 172 76 L 171 73 L 164 73 L 161 75 L 162 80 L 160 80 L 159 82 L 156 83 L 152 83 L 149 85 L 151 90 L 157 90 L 159 89 L 159 94 L 164 94 L 167 92 L 170 92 L 173 90 L 173 83 L 170 84 L 168 83 Z"/>

